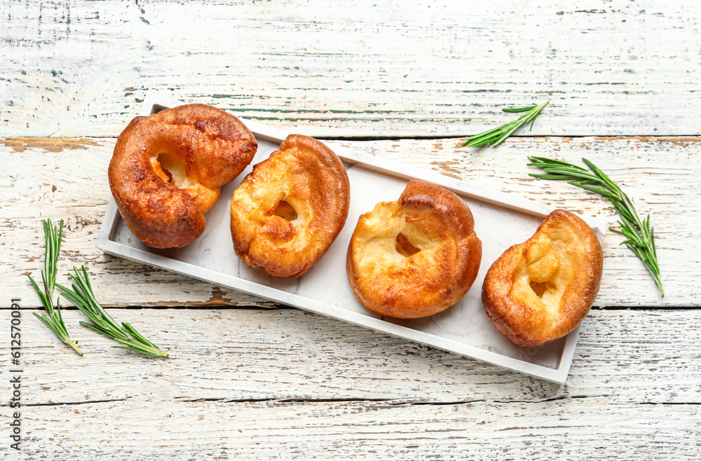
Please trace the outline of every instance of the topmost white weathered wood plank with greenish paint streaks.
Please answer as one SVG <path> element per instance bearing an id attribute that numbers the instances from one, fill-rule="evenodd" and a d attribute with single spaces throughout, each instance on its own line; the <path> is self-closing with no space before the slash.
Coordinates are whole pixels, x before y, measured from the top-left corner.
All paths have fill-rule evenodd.
<path id="1" fill-rule="evenodd" d="M 696 0 L 0 4 L 0 136 L 116 136 L 147 90 L 309 135 L 697 135 Z"/>

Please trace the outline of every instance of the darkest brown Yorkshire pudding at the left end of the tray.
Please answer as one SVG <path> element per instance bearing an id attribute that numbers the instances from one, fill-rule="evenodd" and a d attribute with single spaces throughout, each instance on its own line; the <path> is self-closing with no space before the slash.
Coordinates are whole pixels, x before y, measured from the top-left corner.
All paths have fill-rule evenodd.
<path id="1" fill-rule="evenodd" d="M 258 144 L 238 118 L 205 104 L 137 117 L 119 135 L 109 187 L 127 227 L 150 247 L 183 247 L 251 162 Z"/>

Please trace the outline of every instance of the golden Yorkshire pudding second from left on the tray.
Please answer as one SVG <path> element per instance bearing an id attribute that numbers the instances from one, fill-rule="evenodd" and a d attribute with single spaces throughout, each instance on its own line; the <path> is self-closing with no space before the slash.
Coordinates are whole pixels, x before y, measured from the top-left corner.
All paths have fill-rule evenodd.
<path id="1" fill-rule="evenodd" d="M 233 191 L 233 248 L 271 275 L 302 275 L 341 232 L 350 197 L 336 154 L 316 139 L 290 135 Z"/>

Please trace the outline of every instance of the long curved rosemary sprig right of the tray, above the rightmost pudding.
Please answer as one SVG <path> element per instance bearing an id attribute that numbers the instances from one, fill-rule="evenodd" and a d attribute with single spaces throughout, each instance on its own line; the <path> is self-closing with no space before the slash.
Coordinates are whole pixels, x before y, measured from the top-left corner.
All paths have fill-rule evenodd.
<path id="1" fill-rule="evenodd" d="M 611 228 L 611 231 L 625 236 L 626 240 L 621 245 L 628 247 L 635 256 L 643 261 L 655 279 L 655 284 L 657 284 L 662 298 L 664 298 L 665 290 L 662 289 L 662 280 L 660 280 L 660 266 L 658 266 L 657 251 L 655 250 L 655 233 L 650 226 L 650 215 L 648 214 L 646 219 L 641 220 L 628 195 L 586 158 L 582 160 L 590 170 L 550 158 L 529 156 L 528 159 L 531 161 L 529 166 L 542 168 L 547 173 L 530 173 L 529 176 L 542 179 L 564 179 L 569 184 L 600 193 L 611 199 L 613 202 L 611 208 L 615 209 L 620 216 L 620 221 L 618 221 L 620 230 Z"/>

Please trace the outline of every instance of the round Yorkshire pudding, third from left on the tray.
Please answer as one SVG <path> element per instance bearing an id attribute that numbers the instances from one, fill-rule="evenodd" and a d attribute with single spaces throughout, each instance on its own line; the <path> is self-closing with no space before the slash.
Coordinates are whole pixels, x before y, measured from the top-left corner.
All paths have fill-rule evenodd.
<path id="1" fill-rule="evenodd" d="M 397 202 L 362 214 L 348 245 L 348 282 L 366 308 L 416 319 L 454 305 L 475 282 L 482 242 L 465 202 L 409 181 Z"/>

